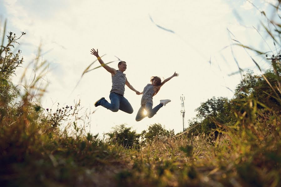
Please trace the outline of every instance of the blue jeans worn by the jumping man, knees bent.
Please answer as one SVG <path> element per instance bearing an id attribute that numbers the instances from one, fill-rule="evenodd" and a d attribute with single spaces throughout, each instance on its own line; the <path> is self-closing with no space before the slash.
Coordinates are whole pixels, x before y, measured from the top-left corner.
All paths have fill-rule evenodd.
<path id="1" fill-rule="evenodd" d="M 100 101 L 100 105 L 111 110 L 112 112 L 122 110 L 125 113 L 133 113 L 133 107 L 124 96 L 118 95 L 117 93 L 110 93 L 109 98 L 110 103 L 108 103 L 106 99 L 103 99 Z"/>

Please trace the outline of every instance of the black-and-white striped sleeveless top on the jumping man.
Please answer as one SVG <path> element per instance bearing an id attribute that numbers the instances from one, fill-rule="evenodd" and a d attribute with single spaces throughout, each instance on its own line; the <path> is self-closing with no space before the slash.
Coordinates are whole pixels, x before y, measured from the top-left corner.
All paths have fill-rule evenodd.
<path id="1" fill-rule="evenodd" d="M 117 70 L 116 74 L 112 76 L 111 79 L 112 89 L 110 90 L 110 93 L 118 93 L 124 95 L 126 74 L 123 74 L 121 71 Z"/>

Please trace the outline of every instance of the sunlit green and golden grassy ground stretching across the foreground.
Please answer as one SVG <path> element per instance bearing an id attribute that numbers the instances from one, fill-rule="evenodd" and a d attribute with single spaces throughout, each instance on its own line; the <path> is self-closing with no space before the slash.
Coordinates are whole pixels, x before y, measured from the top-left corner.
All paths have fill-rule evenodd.
<path id="1" fill-rule="evenodd" d="M 23 108 L 25 110 L 26 108 Z M 23 115 L 1 126 L 5 186 L 279 186 L 280 113 L 209 135 L 156 137 L 126 149 L 97 136 L 44 131 Z"/>

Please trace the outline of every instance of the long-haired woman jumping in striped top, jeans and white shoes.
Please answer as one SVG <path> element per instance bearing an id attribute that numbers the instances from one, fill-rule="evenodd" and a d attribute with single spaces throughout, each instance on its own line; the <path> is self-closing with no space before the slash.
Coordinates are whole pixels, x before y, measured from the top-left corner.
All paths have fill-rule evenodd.
<path id="1" fill-rule="evenodd" d="M 140 121 L 146 116 L 148 118 L 153 117 L 157 111 L 163 107 L 163 105 L 166 105 L 167 103 L 171 102 L 169 99 L 164 99 L 160 100 L 160 104 L 158 104 L 156 107 L 152 108 L 153 106 L 153 101 L 152 98 L 154 95 L 158 93 L 160 90 L 161 86 L 165 84 L 168 80 L 172 79 L 173 77 L 177 77 L 179 74 L 176 72 L 169 78 L 165 79 L 163 82 L 161 82 L 161 79 L 159 77 L 151 77 L 150 82 L 151 84 L 147 84 L 143 92 L 140 94 L 143 94 L 142 99 L 141 99 L 141 107 L 138 110 L 137 116 L 136 116 L 136 121 Z M 144 114 L 144 110 L 147 112 Z"/>

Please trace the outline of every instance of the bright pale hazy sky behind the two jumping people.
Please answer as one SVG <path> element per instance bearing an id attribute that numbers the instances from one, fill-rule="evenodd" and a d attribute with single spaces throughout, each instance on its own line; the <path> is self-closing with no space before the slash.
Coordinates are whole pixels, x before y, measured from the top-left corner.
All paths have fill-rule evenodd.
<path id="1" fill-rule="evenodd" d="M 268 17 L 272 8 L 268 2 L 252 1 Z M 81 100 L 81 106 L 93 111 L 93 103 L 101 97 L 108 99 L 111 77 L 104 69 L 91 71 L 83 76 L 72 92 L 83 70 L 95 60 L 91 48 L 98 48 L 103 60 L 116 60 L 114 55 L 127 62 L 125 71 L 129 82 L 139 91 L 149 83 L 151 76 L 167 78 L 174 71 L 179 77 L 171 79 L 153 98 L 154 104 L 160 99 L 172 102 L 161 108 L 150 119 L 135 122 L 141 96 L 126 88 L 125 97 L 134 108 L 133 114 L 121 111 L 113 113 L 105 108 L 90 115 L 90 131 L 110 131 L 114 125 L 128 123 L 137 132 L 148 125 L 161 123 L 175 132 L 182 130 L 180 96 L 184 94 L 186 121 L 195 117 L 194 110 L 201 102 L 213 96 L 231 98 L 241 80 L 233 60 L 231 38 L 244 45 L 269 51 L 259 33 L 273 50 L 273 42 L 266 37 L 259 26 L 265 18 L 247 1 L 17 1 L 0 0 L 0 14 L 8 20 L 8 31 L 26 36 L 20 41 L 20 49 L 26 64 L 31 62 L 41 44 L 43 59 L 50 65 L 47 74 L 48 92 L 41 104 L 50 108 L 53 103 L 73 105 Z M 175 33 L 158 28 L 150 19 Z M 233 33 L 232 36 L 228 30 Z M 2 32 L 2 31 L 1 31 Z M 223 49 L 223 50 L 222 50 Z M 272 53 L 277 53 L 278 50 Z M 249 53 L 261 68 L 269 67 L 264 56 Z M 233 54 L 242 69 L 257 72 L 254 63 L 241 47 L 233 46 Z M 208 62 L 211 58 L 211 64 Z M 93 67 L 97 66 L 94 64 Z M 117 69 L 117 62 L 110 64 Z M 31 73 L 31 68 L 29 72 Z M 18 70 L 20 74 L 23 69 Z M 17 78 L 14 78 L 17 82 Z M 55 106 L 53 106 L 55 107 Z M 186 124 L 187 125 L 187 124 Z"/>

